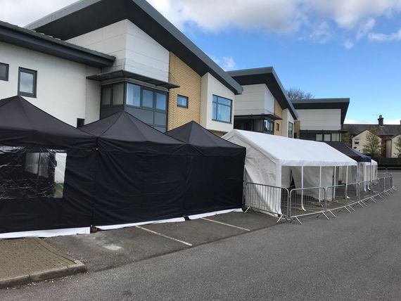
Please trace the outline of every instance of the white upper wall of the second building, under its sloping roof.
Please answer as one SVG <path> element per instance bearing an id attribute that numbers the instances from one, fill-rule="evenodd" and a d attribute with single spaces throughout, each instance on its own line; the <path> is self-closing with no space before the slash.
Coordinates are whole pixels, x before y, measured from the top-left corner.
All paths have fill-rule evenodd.
<path id="1" fill-rule="evenodd" d="M 243 92 L 235 96 L 235 115 L 260 115 L 274 113 L 274 96 L 266 84 L 243 86 Z"/>

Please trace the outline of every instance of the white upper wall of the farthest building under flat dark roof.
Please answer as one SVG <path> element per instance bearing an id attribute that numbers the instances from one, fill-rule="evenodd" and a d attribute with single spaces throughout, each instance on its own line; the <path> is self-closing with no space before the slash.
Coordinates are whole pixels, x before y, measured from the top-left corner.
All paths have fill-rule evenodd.
<path id="1" fill-rule="evenodd" d="M 301 130 L 341 129 L 341 109 L 297 110 Z"/>

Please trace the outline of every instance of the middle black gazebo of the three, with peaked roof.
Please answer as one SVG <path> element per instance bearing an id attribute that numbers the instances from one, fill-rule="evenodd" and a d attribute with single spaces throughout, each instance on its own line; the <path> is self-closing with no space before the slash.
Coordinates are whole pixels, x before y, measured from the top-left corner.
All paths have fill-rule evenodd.
<path id="1" fill-rule="evenodd" d="M 184 216 L 186 143 L 124 111 L 79 129 L 97 137 L 94 226 Z"/>

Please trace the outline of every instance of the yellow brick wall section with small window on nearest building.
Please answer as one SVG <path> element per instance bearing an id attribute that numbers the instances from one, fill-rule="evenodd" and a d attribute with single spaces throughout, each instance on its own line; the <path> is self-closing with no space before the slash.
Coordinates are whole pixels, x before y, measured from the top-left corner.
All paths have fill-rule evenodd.
<path id="1" fill-rule="evenodd" d="M 169 91 L 168 130 L 192 120 L 200 123 L 200 75 L 174 53 L 170 53 L 170 82 L 179 88 Z M 178 95 L 189 98 L 188 108 L 177 106 Z"/>

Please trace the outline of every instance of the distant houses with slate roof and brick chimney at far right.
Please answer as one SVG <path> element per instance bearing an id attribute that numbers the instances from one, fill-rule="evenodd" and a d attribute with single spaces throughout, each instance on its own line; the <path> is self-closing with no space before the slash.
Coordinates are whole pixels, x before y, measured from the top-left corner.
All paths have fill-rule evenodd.
<path id="1" fill-rule="evenodd" d="M 381 140 L 382 157 L 397 157 L 397 155 L 395 155 L 395 144 L 393 142 L 395 138 L 401 134 L 401 121 L 400 124 L 384 124 L 384 118 L 380 115 L 378 117 L 378 124 L 344 124 L 343 130 L 350 134 L 352 148 L 361 152 L 366 143 L 367 132 L 372 130 Z"/>

